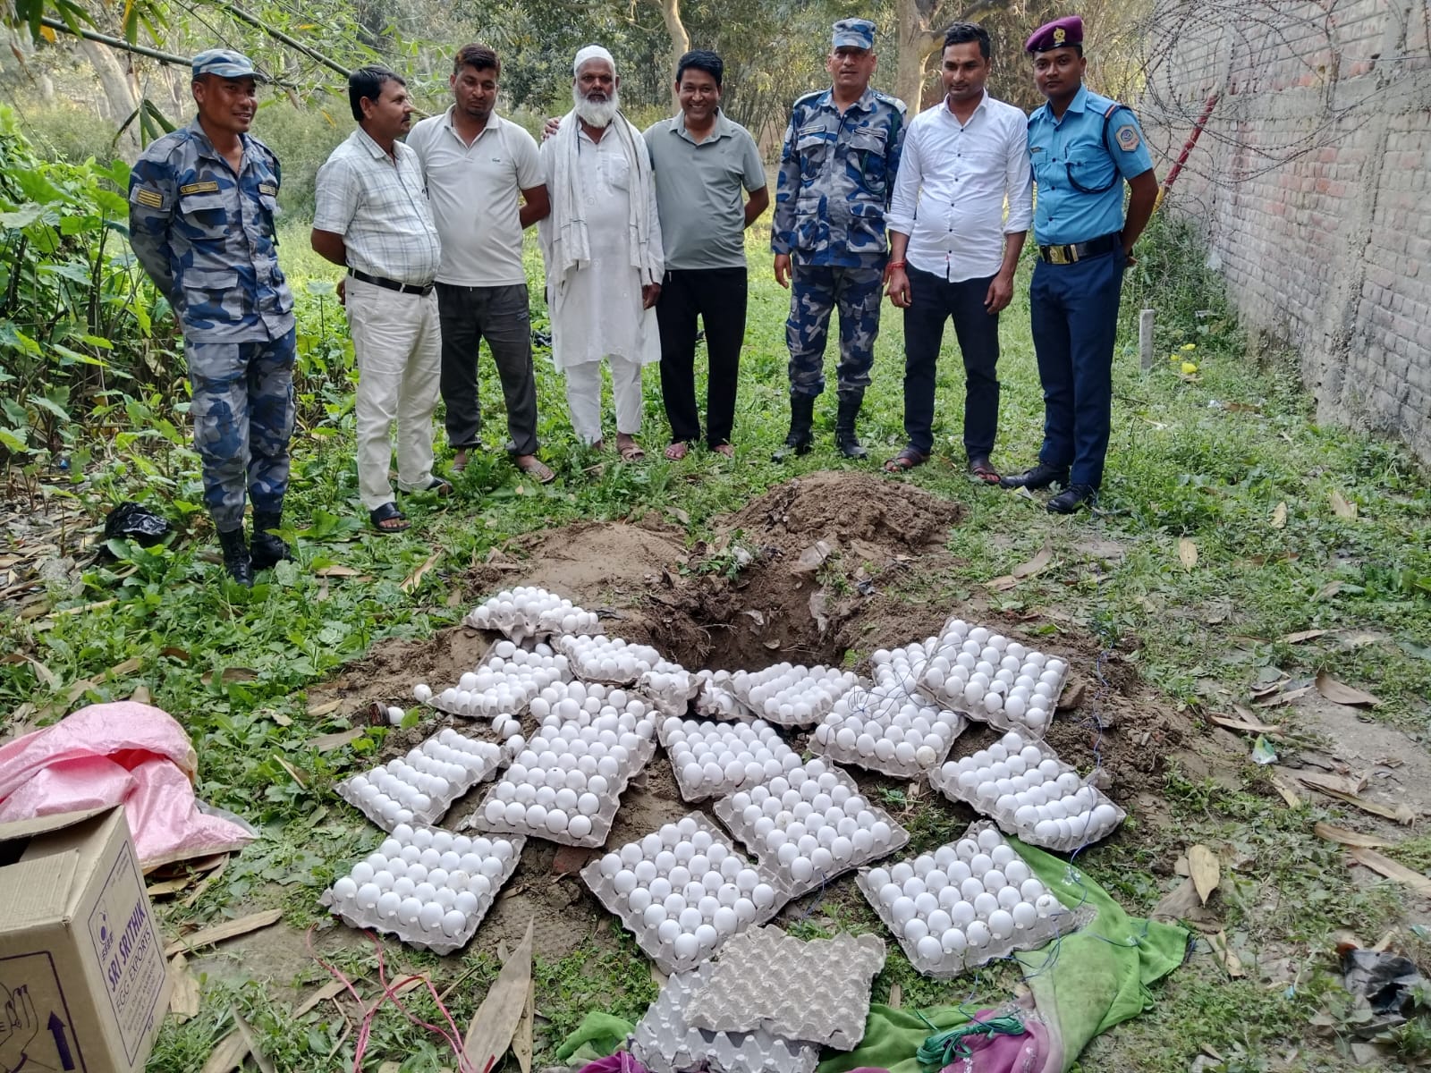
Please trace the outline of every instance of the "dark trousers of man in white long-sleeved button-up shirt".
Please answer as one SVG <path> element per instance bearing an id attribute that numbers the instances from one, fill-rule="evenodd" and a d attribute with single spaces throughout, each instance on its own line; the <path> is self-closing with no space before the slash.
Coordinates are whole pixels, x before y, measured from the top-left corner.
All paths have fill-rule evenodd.
<path id="1" fill-rule="evenodd" d="M 934 366 L 953 318 L 964 356 L 964 451 L 987 458 L 999 428 L 999 315 L 985 309 L 993 276 L 950 283 L 910 265 L 904 310 L 904 435 L 923 455 L 934 446 Z"/>

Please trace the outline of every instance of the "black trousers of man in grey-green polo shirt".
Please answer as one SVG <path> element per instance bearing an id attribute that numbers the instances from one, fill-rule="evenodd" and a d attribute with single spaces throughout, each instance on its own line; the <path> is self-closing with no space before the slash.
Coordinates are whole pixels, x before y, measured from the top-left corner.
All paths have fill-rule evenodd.
<path id="1" fill-rule="evenodd" d="M 701 438 L 695 405 L 695 318 L 705 328 L 705 442 L 730 442 L 736 382 L 746 339 L 746 269 L 678 269 L 665 273 L 655 319 L 661 329 L 661 398 L 673 444 Z"/>

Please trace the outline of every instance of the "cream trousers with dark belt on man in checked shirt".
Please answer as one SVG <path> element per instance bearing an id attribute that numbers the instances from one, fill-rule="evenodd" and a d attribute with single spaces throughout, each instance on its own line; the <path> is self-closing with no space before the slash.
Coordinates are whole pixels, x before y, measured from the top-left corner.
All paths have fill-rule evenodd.
<path id="1" fill-rule="evenodd" d="M 375 511 L 392 502 L 392 422 L 398 488 L 432 481 L 432 412 L 438 406 L 442 333 L 436 292 L 404 295 L 348 278 L 348 330 L 358 359 L 358 491 Z"/>

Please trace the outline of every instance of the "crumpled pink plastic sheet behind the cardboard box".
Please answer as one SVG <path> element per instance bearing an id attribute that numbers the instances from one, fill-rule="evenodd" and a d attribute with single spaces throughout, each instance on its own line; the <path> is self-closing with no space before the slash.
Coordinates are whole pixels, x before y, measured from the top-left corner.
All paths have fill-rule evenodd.
<path id="1" fill-rule="evenodd" d="M 236 850 L 253 831 L 199 810 L 197 757 L 162 708 L 92 704 L 0 747 L 0 823 L 123 804 L 145 870 Z"/>

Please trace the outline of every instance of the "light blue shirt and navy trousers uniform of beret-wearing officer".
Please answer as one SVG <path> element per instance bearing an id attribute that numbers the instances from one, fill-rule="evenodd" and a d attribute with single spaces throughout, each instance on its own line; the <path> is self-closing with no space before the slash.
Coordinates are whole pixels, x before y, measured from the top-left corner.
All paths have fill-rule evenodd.
<path id="1" fill-rule="evenodd" d="M 1103 481 L 1113 399 L 1113 338 L 1123 286 L 1123 180 L 1152 169 L 1133 113 L 1080 87 L 1062 117 L 1029 116 L 1039 263 L 1029 286 L 1043 383 L 1039 461 L 1070 485 Z"/>

